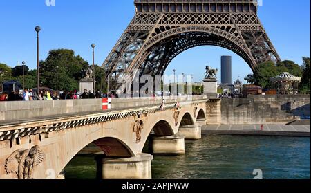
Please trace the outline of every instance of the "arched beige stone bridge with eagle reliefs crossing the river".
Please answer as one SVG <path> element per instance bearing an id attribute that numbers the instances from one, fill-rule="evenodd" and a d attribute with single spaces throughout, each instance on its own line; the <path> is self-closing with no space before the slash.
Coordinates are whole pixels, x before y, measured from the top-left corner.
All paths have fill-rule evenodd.
<path id="1" fill-rule="evenodd" d="M 97 178 L 151 178 L 153 156 L 142 154 L 147 139 L 153 154 L 184 154 L 185 138 L 200 138 L 198 123 L 207 122 L 211 109 L 207 98 L 166 100 L 164 106 L 159 101 L 129 105 L 129 99 L 109 111 L 2 121 L 0 178 L 62 178 L 64 167 L 90 143 L 103 152 Z"/>

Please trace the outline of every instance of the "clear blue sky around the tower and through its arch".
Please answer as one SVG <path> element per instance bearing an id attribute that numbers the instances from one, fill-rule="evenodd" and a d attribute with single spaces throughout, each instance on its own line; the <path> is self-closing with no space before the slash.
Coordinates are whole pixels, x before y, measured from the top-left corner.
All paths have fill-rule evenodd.
<path id="1" fill-rule="evenodd" d="M 133 0 L 55 0 L 55 6 L 46 6 L 46 0 L 0 0 L 0 63 L 14 67 L 25 61 L 36 68 L 34 28 L 39 25 L 40 59 L 51 49 L 68 48 L 91 64 L 95 43 L 95 64 L 102 65 L 134 14 Z M 258 17 L 281 59 L 301 65 L 302 57 L 310 57 L 310 0 L 263 0 Z M 232 55 L 232 81 L 252 73 L 232 51 L 200 46 L 173 59 L 166 74 L 176 69 L 200 82 L 205 66 L 220 70 L 221 55 Z"/>

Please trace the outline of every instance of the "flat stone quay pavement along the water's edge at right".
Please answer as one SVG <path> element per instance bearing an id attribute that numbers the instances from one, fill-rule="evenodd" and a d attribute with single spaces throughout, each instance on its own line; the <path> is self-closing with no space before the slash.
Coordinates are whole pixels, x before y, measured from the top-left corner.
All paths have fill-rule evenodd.
<path id="1" fill-rule="evenodd" d="M 310 137 L 310 125 L 204 125 L 202 134 Z"/>

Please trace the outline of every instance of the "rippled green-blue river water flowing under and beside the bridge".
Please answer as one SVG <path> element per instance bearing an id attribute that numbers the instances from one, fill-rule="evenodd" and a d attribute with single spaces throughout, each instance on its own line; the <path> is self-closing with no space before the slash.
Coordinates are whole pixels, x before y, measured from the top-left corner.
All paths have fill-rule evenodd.
<path id="1" fill-rule="evenodd" d="M 266 179 L 310 179 L 310 138 L 214 136 L 187 140 L 184 156 L 155 156 L 154 179 L 252 179 L 261 169 Z M 93 156 L 76 156 L 66 166 L 67 179 L 94 179 Z"/>

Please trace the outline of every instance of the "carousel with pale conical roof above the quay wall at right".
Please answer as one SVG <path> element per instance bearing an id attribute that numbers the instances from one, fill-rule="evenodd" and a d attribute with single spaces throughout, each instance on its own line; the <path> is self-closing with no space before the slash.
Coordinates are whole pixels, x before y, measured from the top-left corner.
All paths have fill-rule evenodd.
<path id="1" fill-rule="evenodd" d="M 270 78 L 270 82 L 276 89 L 276 93 L 281 95 L 299 94 L 301 77 L 296 77 L 290 73 L 281 73 L 276 77 Z"/>

